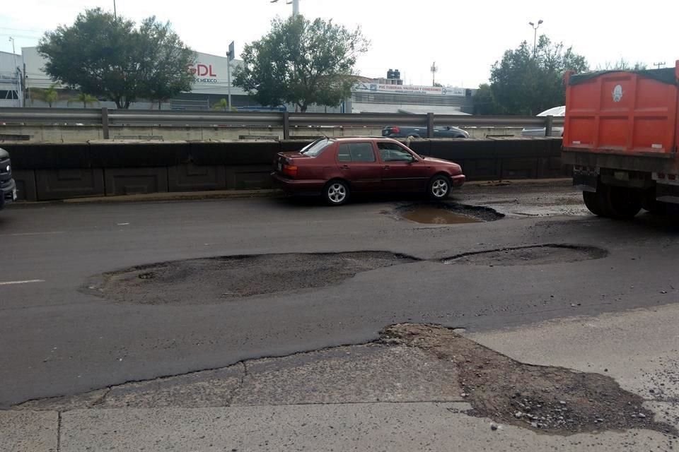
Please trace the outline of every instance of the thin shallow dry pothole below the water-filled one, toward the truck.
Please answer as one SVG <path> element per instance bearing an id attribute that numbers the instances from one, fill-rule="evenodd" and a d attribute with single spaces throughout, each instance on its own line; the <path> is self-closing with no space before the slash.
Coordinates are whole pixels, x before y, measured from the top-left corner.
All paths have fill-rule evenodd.
<path id="1" fill-rule="evenodd" d="M 443 259 L 443 263 L 477 266 L 537 266 L 600 259 L 605 256 L 608 256 L 608 251 L 596 246 L 545 244 L 472 251 Z"/>

